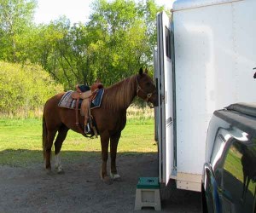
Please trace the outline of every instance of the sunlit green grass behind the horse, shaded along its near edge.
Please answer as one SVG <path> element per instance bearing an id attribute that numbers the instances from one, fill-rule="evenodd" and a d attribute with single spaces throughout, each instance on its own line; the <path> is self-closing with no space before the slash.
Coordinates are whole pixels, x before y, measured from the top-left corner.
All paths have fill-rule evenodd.
<path id="1" fill-rule="evenodd" d="M 79 159 L 84 154 L 99 156 L 100 138 L 88 139 L 70 130 L 61 148 L 62 158 Z M 155 153 L 154 119 L 128 118 L 119 140 L 118 153 Z M 23 167 L 43 163 L 42 120 L 0 118 L 0 164 Z"/>

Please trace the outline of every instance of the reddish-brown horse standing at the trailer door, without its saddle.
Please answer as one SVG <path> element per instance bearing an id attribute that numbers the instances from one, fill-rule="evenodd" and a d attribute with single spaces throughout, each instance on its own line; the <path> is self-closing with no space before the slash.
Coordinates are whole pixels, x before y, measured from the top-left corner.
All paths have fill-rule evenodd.
<path id="1" fill-rule="evenodd" d="M 50 153 L 55 135 L 55 168 L 58 173 L 63 172 L 59 153 L 63 141 L 67 136 L 68 130 L 79 133 L 79 128 L 75 124 L 75 110 L 58 107 L 64 93 L 51 97 L 44 106 L 43 115 L 43 152 L 45 159 L 45 169 L 50 170 Z M 143 72 L 141 68 L 137 75 L 126 78 L 105 89 L 102 97 L 102 105 L 99 108 L 91 110 L 91 115 L 96 121 L 97 130 L 101 136 L 102 144 L 102 170 L 101 177 L 103 181 L 111 182 L 107 172 L 108 143 L 110 139 L 110 157 L 112 179 L 119 179 L 116 169 L 116 152 L 119 143 L 121 131 L 126 124 L 126 110 L 131 105 L 135 96 L 144 101 L 151 102 L 154 107 L 157 106 L 158 98 L 153 80 L 148 76 L 147 71 Z M 83 126 L 83 117 L 79 116 L 79 123 Z"/>

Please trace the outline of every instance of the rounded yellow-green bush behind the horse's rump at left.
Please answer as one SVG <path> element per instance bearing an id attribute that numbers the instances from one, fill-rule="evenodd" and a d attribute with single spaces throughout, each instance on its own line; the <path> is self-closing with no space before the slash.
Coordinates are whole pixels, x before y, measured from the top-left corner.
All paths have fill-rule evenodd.
<path id="1" fill-rule="evenodd" d="M 0 114 L 38 117 L 45 101 L 63 91 L 41 66 L 0 61 Z"/>

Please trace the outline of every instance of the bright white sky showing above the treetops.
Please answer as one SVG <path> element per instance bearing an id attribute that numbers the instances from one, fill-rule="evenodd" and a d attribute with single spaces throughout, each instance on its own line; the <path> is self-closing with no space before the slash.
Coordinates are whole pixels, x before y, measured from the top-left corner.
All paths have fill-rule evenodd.
<path id="1" fill-rule="evenodd" d="M 155 0 L 155 3 L 171 8 L 172 1 Z M 35 22 L 49 24 L 50 20 L 56 20 L 61 15 L 66 15 L 71 23 L 85 22 L 89 18 L 91 2 L 92 0 L 38 0 Z"/>

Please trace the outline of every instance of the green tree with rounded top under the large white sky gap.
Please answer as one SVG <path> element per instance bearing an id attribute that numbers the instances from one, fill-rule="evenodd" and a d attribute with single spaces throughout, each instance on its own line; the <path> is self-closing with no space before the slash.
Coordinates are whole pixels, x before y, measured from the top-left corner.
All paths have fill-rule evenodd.
<path id="1" fill-rule="evenodd" d="M 86 26 L 81 23 L 70 26 L 69 20 L 61 17 L 44 26 L 40 31 L 41 64 L 66 89 L 73 89 L 76 83 L 92 83 L 93 73 L 88 69 L 90 42 Z M 42 40 L 42 39 L 41 39 Z"/>

